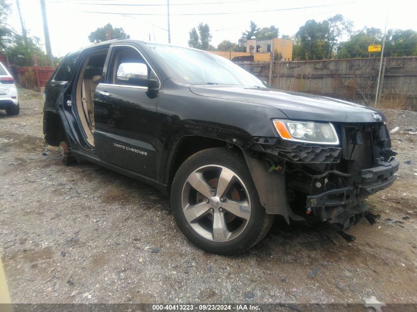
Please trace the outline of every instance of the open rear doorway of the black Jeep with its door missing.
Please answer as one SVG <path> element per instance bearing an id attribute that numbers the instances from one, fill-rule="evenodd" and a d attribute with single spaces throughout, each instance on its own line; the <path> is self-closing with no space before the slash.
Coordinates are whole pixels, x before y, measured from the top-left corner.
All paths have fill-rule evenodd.
<path id="1" fill-rule="evenodd" d="M 76 111 L 87 142 L 94 146 L 94 93 L 100 83 L 107 50 L 88 54 L 76 83 Z"/>

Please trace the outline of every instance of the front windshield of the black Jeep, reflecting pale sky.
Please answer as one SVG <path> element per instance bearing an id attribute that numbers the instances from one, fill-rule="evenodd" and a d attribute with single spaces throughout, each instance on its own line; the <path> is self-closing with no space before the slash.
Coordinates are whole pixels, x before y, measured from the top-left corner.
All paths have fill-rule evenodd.
<path id="1" fill-rule="evenodd" d="M 155 45 L 153 49 L 170 75 L 184 83 L 266 87 L 262 80 L 224 57 L 168 45 Z"/>

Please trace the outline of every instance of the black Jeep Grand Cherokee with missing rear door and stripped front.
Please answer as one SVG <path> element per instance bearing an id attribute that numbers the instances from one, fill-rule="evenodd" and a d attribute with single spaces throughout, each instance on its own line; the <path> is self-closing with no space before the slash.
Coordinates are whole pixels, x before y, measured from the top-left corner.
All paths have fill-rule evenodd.
<path id="1" fill-rule="evenodd" d="M 211 53 L 115 40 L 68 54 L 45 88 L 43 132 L 87 160 L 171 196 L 181 231 L 235 254 L 273 216 L 356 224 L 395 181 L 384 115 L 274 90 Z"/>

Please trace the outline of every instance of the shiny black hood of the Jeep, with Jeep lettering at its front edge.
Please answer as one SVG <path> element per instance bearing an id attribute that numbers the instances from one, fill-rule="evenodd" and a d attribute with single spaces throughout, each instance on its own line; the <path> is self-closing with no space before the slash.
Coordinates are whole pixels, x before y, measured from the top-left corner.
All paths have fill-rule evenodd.
<path id="1" fill-rule="evenodd" d="M 333 122 L 385 121 L 385 116 L 376 109 L 304 93 L 269 88 L 223 85 L 192 85 L 190 86 L 190 91 L 204 97 L 276 107 L 289 119 L 294 120 Z"/>

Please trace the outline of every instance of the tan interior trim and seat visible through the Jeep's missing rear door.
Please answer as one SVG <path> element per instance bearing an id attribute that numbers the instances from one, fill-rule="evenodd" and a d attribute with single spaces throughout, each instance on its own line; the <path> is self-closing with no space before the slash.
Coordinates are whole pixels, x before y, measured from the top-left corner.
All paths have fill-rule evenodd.
<path id="1" fill-rule="evenodd" d="M 102 54 L 101 54 L 102 55 Z M 94 146 L 94 94 L 97 85 L 100 83 L 101 75 L 94 75 L 93 77 L 85 77 L 86 68 L 89 64 L 90 58 L 96 55 L 89 55 L 85 59 L 80 75 L 76 84 L 76 108 L 78 116 L 81 121 L 81 126 L 86 134 L 87 141 Z"/>

